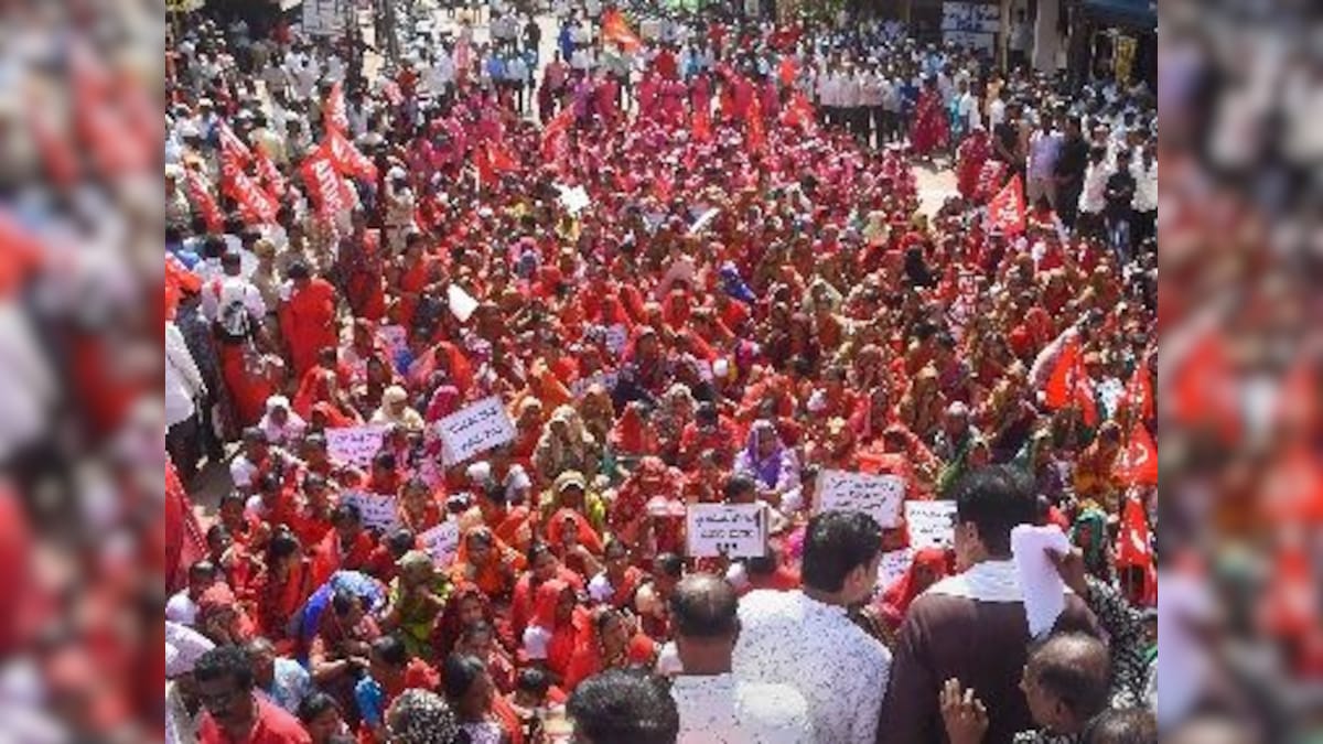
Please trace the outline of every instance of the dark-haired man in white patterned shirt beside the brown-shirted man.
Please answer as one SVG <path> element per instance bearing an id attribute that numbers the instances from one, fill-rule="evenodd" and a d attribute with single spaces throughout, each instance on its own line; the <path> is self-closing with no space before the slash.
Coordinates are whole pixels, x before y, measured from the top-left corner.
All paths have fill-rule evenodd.
<path id="1" fill-rule="evenodd" d="M 882 531 L 872 516 L 828 511 L 808 522 L 803 589 L 740 602 L 734 673 L 789 684 L 808 700 L 818 741 L 873 741 L 892 654 L 847 616 L 873 593 Z"/>

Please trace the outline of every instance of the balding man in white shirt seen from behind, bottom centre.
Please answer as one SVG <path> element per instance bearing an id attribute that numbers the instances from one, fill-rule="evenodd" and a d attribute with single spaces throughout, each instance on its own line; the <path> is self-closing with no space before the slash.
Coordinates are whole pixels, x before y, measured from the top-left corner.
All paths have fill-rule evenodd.
<path id="1" fill-rule="evenodd" d="M 710 573 L 689 576 L 671 594 L 671 628 L 684 671 L 671 686 L 687 744 L 811 744 L 808 702 L 787 684 L 737 679 L 740 637 L 734 586 Z"/>

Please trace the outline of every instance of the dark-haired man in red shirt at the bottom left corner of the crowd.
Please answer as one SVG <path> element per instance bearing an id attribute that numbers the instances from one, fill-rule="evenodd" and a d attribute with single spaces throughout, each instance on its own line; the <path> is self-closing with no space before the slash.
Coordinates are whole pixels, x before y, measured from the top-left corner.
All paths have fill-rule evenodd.
<path id="1" fill-rule="evenodd" d="M 238 646 L 212 649 L 193 667 L 206 712 L 201 744 L 311 744 L 299 720 L 254 691 L 253 665 Z"/>

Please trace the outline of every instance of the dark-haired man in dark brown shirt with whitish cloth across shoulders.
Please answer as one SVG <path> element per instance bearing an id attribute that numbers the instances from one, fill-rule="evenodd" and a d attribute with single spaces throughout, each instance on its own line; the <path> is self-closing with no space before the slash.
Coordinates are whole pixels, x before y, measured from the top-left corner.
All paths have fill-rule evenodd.
<path id="1" fill-rule="evenodd" d="M 938 695 L 959 679 L 988 711 L 984 744 L 1009 744 L 1033 727 L 1020 678 L 1028 658 L 1024 593 L 1011 561 L 1011 530 L 1032 523 L 1033 486 L 1007 466 L 975 470 L 950 492 L 957 502 L 959 575 L 938 581 L 910 605 L 896 645 L 878 743 L 945 741 Z M 1093 613 L 1073 594 L 1057 630 L 1098 635 Z"/>

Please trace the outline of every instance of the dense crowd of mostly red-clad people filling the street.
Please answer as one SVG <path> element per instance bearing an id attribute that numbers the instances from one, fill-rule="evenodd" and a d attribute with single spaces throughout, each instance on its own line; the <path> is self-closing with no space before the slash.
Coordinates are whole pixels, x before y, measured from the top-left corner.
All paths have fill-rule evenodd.
<path id="1" fill-rule="evenodd" d="M 549 58 L 505 5 L 400 64 L 176 40 L 171 740 L 1156 741 L 1143 87 L 560 11 Z M 830 471 L 954 503 L 945 541 Z M 762 555 L 692 556 L 692 504 L 757 504 Z M 1021 524 L 1072 543 L 1035 637 Z"/>

